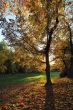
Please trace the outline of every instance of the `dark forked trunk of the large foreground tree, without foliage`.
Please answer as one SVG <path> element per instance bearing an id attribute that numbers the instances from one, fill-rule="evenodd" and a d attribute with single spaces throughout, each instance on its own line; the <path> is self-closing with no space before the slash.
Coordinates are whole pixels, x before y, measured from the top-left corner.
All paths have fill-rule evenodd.
<path id="1" fill-rule="evenodd" d="M 52 35 L 54 30 L 57 28 L 57 25 L 59 23 L 58 21 L 58 2 L 56 1 L 56 11 L 55 11 L 55 24 L 54 26 L 50 29 L 50 24 L 52 21 L 52 17 L 51 17 L 51 11 L 49 8 L 49 4 L 51 3 L 50 0 L 46 0 L 46 10 L 47 10 L 47 27 L 46 27 L 46 34 L 47 34 L 47 44 L 46 44 L 46 48 L 45 48 L 45 60 L 46 60 L 46 84 L 45 85 L 49 85 L 50 84 L 50 61 L 49 61 L 49 52 L 50 52 L 50 45 L 51 45 L 51 41 L 52 41 Z"/>

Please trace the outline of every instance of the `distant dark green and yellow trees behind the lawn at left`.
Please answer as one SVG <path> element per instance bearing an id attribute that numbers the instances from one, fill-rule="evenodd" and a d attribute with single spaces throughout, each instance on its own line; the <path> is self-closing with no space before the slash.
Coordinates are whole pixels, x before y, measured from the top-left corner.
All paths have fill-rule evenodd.
<path id="1" fill-rule="evenodd" d="M 13 51 L 10 47 L 8 47 L 7 43 L 2 41 L 0 42 L 0 73 L 4 74 L 16 74 L 16 73 L 29 73 L 29 72 L 40 72 L 35 68 L 35 66 L 31 66 L 27 68 L 25 64 L 24 58 L 17 57 L 18 53 Z M 15 60 L 15 58 L 17 59 Z"/>

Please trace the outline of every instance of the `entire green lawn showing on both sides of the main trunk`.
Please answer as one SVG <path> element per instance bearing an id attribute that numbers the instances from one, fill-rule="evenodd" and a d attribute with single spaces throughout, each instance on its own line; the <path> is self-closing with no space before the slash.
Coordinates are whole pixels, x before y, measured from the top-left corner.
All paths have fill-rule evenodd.
<path id="1" fill-rule="evenodd" d="M 58 72 L 51 72 L 51 78 L 58 78 Z M 0 87 L 12 84 L 26 83 L 30 81 L 36 81 L 39 79 L 45 79 L 45 73 L 28 73 L 28 74 L 8 74 L 0 75 Z"/>

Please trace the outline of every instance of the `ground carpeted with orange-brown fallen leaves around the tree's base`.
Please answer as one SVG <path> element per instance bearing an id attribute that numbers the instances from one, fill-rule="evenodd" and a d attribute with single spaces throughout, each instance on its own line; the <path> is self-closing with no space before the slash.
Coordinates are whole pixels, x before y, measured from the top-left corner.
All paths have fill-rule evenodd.
<path id="1" fill-rule="evenodd" d="M 0 89 L 0 110 L 73 110 L 73 80 L 35 81 Z"/>

